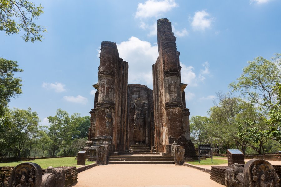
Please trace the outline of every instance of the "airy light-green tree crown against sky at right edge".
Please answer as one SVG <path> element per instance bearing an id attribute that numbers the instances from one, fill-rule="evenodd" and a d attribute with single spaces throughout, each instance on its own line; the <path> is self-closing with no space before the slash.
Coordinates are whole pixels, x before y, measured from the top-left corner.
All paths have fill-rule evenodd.
<path id="1" fill-rule="evenodd" d="M 242 95 L 260 109 L 270 110 L 276 103 L 273 87 L 281 82 L 281 54 L 275 54 L 272 60 L 257 57 L 248 62 L 237 82 L 230 84 L 234 91 Z"/>

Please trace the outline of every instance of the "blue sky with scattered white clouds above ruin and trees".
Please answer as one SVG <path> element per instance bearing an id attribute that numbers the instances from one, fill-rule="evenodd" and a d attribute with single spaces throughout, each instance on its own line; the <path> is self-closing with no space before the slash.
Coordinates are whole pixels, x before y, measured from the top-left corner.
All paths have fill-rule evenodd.
<path id="1" fill-rule="evenodd" d="M 32 108 L 47 125 L 61 108 L 90 116 L 102 41 L 116 42 L 129 64 L 128 84 L 152 85 L 156 23 L 172 22 L 190 117 L 207 116 L 216 93 L 255 57 L 281 53 L 280 0 L 30 0 L 44 7 L 42 42 L 0 32 L 0 57 L 18 62 L 22 94 L 9 107 Z"/>

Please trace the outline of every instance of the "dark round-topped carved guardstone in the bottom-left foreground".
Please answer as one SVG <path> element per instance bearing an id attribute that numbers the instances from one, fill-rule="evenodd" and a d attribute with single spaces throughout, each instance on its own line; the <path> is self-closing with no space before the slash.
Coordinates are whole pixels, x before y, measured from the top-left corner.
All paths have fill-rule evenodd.
<path id="1" fill-rule="evenodd" d="M 40 187 L 41 182 L 42 169 L 40 165 L 25 162 L 12 170 L 8 187 Z"/>

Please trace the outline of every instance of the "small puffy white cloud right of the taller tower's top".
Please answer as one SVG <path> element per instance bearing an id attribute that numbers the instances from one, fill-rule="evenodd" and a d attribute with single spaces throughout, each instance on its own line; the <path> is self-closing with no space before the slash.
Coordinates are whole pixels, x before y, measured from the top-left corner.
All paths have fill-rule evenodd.
<path id="1" fill-rule="evenodd" d="M 209 17 L 209 13 L 205 10 L 195 12 L 193 20 L 191 22 L 191 26 L 194 30 L 204 31 L 207 28 L 210 28 L 214 18 L 206 18 Z"/>

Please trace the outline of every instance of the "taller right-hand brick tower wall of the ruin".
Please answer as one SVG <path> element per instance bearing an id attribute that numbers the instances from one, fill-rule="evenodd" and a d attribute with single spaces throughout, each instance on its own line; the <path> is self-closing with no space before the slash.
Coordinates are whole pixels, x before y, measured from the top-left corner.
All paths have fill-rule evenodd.
<path id="1" fill-rule="evenodd" d="M 167 144 L 176 141 L 185 148 L 185 154 L 189 154 L 193 147 L 187 149 L 187 139 L 190 139 L 189 111 L 184 110 L 182 99 L 186 84 L 180 81 L 180 53 L 177 51 L 176 38 L 168 19 L 157 21 L 157 37 L 159 56 L 153 65 L 156 151 L 165 151 Z"/>

